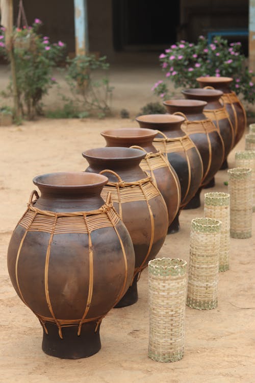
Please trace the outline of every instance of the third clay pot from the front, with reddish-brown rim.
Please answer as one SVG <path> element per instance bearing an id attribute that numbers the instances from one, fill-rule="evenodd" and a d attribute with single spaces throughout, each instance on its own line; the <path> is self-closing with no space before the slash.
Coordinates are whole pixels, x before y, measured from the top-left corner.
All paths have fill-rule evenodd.
<path id="1" fill-rule="evenodd" d="M 162 194 L 168 211 L 168 225 L 170 225 L 180 208 L 181 186 L 179 178 L 166 157 L 153 145 L 152 141 L 157 132 L 152 129 L 125 128 L 112 129 L 101 132 L 107 147 L 135 147 L 146 151 L 140 167 L 151 175 Z"/>

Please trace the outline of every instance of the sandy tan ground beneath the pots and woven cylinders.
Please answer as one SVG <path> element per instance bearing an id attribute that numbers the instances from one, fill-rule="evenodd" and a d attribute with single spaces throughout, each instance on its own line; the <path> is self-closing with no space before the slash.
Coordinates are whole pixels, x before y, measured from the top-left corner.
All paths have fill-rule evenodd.
<path id="1" fill-rule="evenodd" d="M 142 75 L 143 73 L 141 73 Z M 126 79 L 126 78 L 125 78 Z M 157 78 L 156 78 L 157 79 Z M 42 328 L 16 295 L 7 271 L 11 232 L 25 208 L 31 180 L 45 172 L 79 172 L 81 152 L 104 146 L 100 132 L 137 126 L 136 122 L 74 119 L 25 123 L 1 128 L 0 140 L 0 331 L 1 378 L 10 383 L 253 383 L 255 376 L 254 238 L 231 238 L 230 270 L 219 275 L 218 307 L 198 311 L 186 307 L 185 354 L 176 363 L 157 363 L 147 357 L 147 271 L 139 281 L 137 304 L 113 309 L 100 328 L 101 350 L 83 360 L 60 360 L 41 350 Z M 50 137 L 50 138 L 49 138 Z M 35 145 L 36 142 L 36 145 Z M 244 150 L 242 139 L 236 150 Z M 235 166 L 234 151 L 228 157 Z M 216 187 L 226 192 L 226 171 L 216 174 Z M 204 191 L 202 190 L 202 194 Z M 203 216 L 203 206 L 184 210 L 181 231 L 168 235 L 159 257 L 189 259 L 190 222 Z"/>

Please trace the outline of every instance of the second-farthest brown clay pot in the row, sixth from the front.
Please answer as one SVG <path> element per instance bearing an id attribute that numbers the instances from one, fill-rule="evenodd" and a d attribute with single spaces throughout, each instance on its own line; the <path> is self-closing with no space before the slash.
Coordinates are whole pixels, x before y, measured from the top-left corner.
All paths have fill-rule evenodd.
<path id="1" fill-rule="evenodd" d="M 186 99 L 206 101 L 207 106 L 203 109 L 205 116 L 213 121 L 224 142 L 224 161 L 221 169 L 227 167 L 227 156 L 234 147 L 235 130 L 230 116 L 224 105 L 220 103 L 223 94 L 221 90 L 216 89 L 186 89 L 183 90 Z"/>

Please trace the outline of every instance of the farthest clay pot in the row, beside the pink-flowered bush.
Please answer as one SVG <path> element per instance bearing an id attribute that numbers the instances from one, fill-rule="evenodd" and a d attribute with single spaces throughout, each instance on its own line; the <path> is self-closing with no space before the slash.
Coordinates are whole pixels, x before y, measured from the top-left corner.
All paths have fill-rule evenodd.
<path id="1" fill-rule="evenodd" d="M 213 87 L 214 89 L 221 90 L 223 92 L 221 101 L 226 107 L 227 113 L 230 116 L 232 125 L 235 130 L 235 145 L 242 138 L 246 125 L 246 112 L 243 104 L 237 97 L 237 94 L 230 89 L 230 85 L 233 82 L 232 77 L 198 77 L 196 79 L 199 86 Z"/>

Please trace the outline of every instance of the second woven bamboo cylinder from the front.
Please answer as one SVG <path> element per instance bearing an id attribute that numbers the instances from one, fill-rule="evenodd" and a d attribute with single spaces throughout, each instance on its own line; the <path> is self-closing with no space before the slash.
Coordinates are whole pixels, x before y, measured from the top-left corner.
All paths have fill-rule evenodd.
<path id="1" fill-rule="evenodd" d="M 198 310 L 217 307 L 220 229 L 212 218 L 191 222 L 187 305 Z"/>

